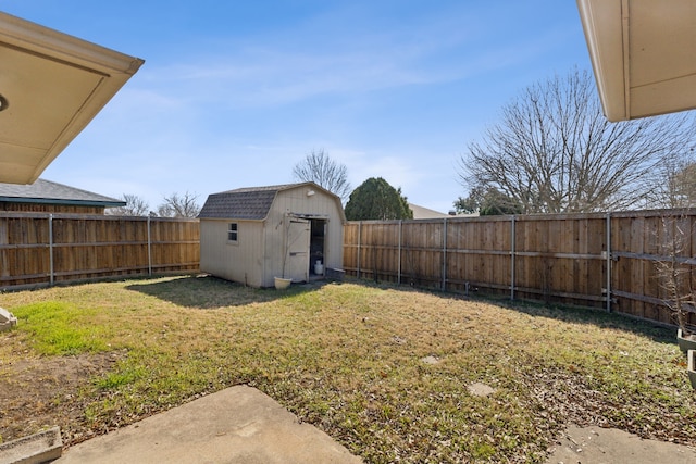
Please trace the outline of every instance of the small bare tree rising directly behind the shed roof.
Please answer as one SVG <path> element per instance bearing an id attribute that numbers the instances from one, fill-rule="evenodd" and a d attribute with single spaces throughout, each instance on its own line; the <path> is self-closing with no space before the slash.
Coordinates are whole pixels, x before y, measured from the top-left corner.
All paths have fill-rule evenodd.
<path id="1" fill-rule="evenodd" d="M 314 183 L 325 188 L 344 201 L 350 195 L 348 170 L 328 158 L 324 149 L 312 150 L 303 161 L 295 165 L 293 175 L 297 180 Z"/>

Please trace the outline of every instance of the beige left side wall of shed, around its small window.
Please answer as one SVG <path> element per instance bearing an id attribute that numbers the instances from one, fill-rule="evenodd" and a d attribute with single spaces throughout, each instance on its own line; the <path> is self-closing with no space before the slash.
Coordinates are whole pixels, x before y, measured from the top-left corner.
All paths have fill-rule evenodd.
<path id="1" fill-rule="evenodd" d="M 229 223 L 237 223 L 238 240 L 227 240 Z M 263 280 L 264 223 L 260 221 L 201 220 L 200 269 L 252 287 Z M 273 285 L 273 280 L 271 284 Z"/>

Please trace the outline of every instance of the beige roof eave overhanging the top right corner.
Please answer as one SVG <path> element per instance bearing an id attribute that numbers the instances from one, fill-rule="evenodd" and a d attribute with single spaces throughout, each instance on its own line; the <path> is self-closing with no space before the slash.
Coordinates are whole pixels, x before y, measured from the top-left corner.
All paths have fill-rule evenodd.
<path id="1" fill-rule="evenodd" d="M 696 0 L 577 0 L 609 121 L 696 108 Z"/>

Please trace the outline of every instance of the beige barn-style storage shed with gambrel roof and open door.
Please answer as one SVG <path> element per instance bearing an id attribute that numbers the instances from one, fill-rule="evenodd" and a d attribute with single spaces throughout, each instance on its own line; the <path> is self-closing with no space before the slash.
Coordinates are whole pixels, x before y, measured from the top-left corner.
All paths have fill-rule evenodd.
<path id="1" fill-rule="evenodd" d="M 252 287 L 343 267 L 340 198 L 314 183 L 240 188 L 208 197 L 199 214 L 200 269 Z"/>

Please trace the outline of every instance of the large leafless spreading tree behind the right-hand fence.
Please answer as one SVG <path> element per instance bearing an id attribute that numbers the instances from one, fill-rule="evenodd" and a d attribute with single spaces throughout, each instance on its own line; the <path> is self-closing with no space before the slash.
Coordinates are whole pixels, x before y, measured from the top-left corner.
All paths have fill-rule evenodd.
<path id="1" fill-rule="evenodd" d="M 523 213 L 645 208 L 656 168 L 696 142 L 689 113 L 610 123 L 594 80 L 575 70 L 526 88 L 460 156 L 469 190 L 493 188 Z"/>

